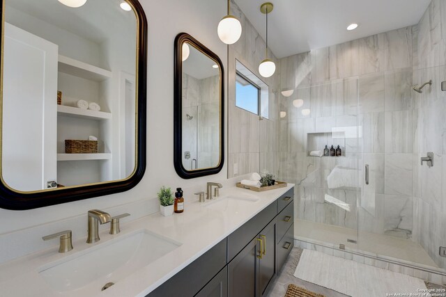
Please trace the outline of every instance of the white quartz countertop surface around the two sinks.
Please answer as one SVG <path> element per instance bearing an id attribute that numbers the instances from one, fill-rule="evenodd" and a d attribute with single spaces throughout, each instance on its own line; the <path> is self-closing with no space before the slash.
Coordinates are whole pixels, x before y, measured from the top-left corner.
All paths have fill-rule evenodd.
<path id="1" fill-rule="evenodd" d="M 249 204 L 249 207 L 228 205 L 222 209 L 206 207 L 206 204 L 213 201 L 200 203 L 198 200 L 186 200 L 182 214 L 164 217 L 158 212 L 129 223 L 122 220 L 120 234 L 110 235 L 108 230 L 102 230 L 98 243 L 87 244 L 83 238 L 73 241 L 74 249 L 70 252 L 59 253 L 57 248 L 51 248 L 6 262 L 0 265 L 0 296 L 146 296 L 293 186 L 288 184 L 284 188 L 259 193 L 236 186 L 224 187 L 220 189 L 220 198 L 215 198 L 216 200 L 231 195 L 258 200 Z M 75 291 L 57 291 L 38 273 L 43 266 L 63 262 L 65 257 L 76 259 L 77 255 L 83 255 L 93 246 L 105 245 L 119 236 L 128 236 L 137 230 L 159 234 L 180 243 L 180 246 L 120 280 L 108 280 L 116 283 L 105 291 L 100 291 L 104 284 L 95 283 L 95 280 Z"/>

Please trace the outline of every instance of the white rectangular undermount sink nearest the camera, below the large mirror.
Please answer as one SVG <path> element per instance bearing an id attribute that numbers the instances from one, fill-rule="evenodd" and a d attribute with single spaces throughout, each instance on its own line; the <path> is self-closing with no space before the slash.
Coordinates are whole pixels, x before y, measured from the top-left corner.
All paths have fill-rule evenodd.
<path id="1" fill-rule="evenodd" d="M 89 284 L 94 282 L 99 292 L 107 282 L 118 282 L 180 245 L 147 230 L 139 230 L 46 264 L 38 273 L 56 291 L 91 287 Z"/>

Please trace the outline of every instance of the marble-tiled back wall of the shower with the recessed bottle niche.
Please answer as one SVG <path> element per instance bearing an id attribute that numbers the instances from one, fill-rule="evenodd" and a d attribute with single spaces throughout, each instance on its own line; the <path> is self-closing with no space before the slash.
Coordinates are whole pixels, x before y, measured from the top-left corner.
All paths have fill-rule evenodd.
<path id="1" fill-rule="evenodd" d="M 279 98 L 287 112 L 279 121 L 279 177 L 298 185 L 299 218 L 412 236 L 412 42 L 409 26 L 280 60 L 280 88 L 295 92 Z M 296 108 L 298 99 L 303 105 Z M 309 109 L 309 114 L 303 109 Z M 341 143 L 345 156 L 307 156 L 308 134 L 328 133 L 334 127 L 353 129 L 353 136 L 326 143 L 329 147 Z M 325 147 L 320 146 L 318 150 Z M 369 185 L 362 178 L 365 164 L 370 166 Z M 349 178 L 359 188 L 329 188 L 328 176 L 334 168 L 357 170 Z M 328 202 L 325 195 L 351 210 Z"/>

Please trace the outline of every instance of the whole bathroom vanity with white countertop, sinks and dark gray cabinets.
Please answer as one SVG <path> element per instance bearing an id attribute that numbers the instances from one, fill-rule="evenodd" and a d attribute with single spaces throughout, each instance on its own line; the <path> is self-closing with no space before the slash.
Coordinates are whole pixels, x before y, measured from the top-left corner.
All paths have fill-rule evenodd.
<path id="1" fill-rule="evenodd" d="M 95 243 L 73 232 L 69 252 L 55 244 L 1 264 L 0 296 L 265 296 L 293 248 L 293 186 L 226 181 L 183 214 L 123 220 L 113 235 L 101 225 Z"/>

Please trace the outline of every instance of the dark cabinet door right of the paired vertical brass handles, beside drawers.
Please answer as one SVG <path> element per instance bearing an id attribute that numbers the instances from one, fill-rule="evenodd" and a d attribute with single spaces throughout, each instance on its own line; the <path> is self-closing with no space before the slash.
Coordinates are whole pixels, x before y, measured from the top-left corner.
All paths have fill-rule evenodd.
<path id="1" fill-rule="evenodd" d="M 262 257 L 259 260 L 259 296 L 266 292 L 268 284 L 276 275 L 277 220 L 272 220 L 259 234 L 263 241 Z"/>

